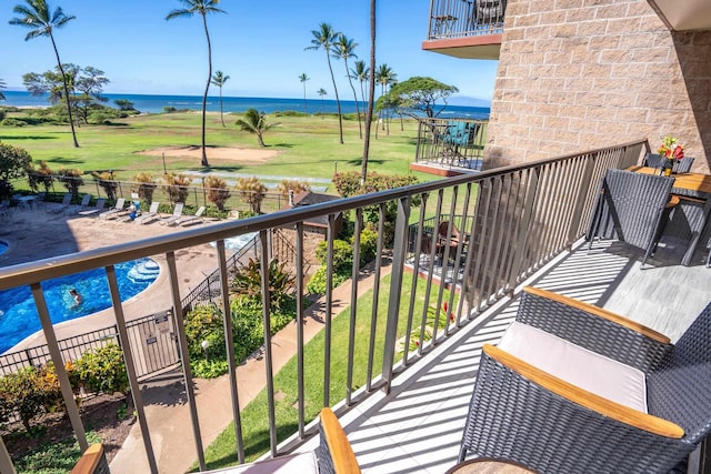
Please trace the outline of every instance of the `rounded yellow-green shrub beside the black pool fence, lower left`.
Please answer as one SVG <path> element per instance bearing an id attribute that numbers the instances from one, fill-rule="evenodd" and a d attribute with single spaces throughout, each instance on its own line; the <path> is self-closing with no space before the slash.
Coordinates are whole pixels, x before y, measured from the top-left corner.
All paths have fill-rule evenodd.
<path id="1" fill-rule="evenodd" d="M 76 365 L 81 382 L 90 392 L 113 394 L 129 391 L 123 353 L 117 344 L 84 352 Z"/>

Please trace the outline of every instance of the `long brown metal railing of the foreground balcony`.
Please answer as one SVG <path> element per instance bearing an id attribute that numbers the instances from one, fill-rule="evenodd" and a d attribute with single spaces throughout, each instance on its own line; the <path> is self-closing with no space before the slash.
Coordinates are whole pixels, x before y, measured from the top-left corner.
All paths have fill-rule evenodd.
<path id="1" fill-rule="evenodd" d="M 263 359 L 266 362 L 264 386 L 267 392 L 266 412 L 268 413 L 270 452 L 280 454 L 286 450 L 279 444 L 278 426 L 282 423 L 278 418 L 277 404 L 294 405 L 298 411 L 296 435 L 306 440 L 312 433 L 307 424 L 313 417 L 307 413 L 304 406 L 304 229 L 303 222 L 326 216 L 329 226 L 328 268 L 327 278 L 332 279 L 333 241 L 336 239 L 336 216 L 350 213 L 354 222 L 353 244 L 353 276 L 359 275 L 359 235 L 363 222 L 374 221 L 378 230 L 378 254 L 383 249 L 392 250 L 392 263 L 389 281 L 380 279 L 382 260 L 377 259 L 374 265 L 373 303 L 362 303 L 357 297 L 358 278 L 353 278 L 348 319 L 347 347 L 333 344 L 333 320 L 331 309 L 334 303 L 333 290 L 327 285 L 324 300 L 324 327 L 322 339 L 323 380 L 318 384 L 317 396 L 323 406 L 338 405 L 339 409 L 353 406 L 375 391 L 389 392 L 393 377 L 407 371 L 417 360 L 425 356 L 439 342 L 448 339 L 458 329 L 475 319 L 475 316 L 497 300 L 509 292 L 528 275 L 535 272 L 550 259 L 570 248 L 585 229 L 585 223 L 592 212 L 597 183 L 609 168 L 625 168 L 639 162 L 641 153 L 647 148 L 645 141 L 637 141 L 607 149 L 587 151 L 579 154 L 565 155 L 528 163 L 490 170 L 480 174 L 465 174 L 448 180 L 417 184 L 374 194 L 338 200 L 329 203 L 314 204 L 288 211 L 280 211 L 268 215 L 250 218 L 241 221 L 218 223 L 199 229 L 191 229 L 174 234 L 156 236 L 147 240 L 129 242 L 121 245 L 96 249 L 71 255 L 62 255 L 44 261 L 14 265 L 0 269 L 0 290 L 21 285 L 30 286 L 44 336 L 57 375 L 59 377 L 67 412 L 74 433 L 82 450 L 87 448 L 84 427 L 79 416 L 73 393 L 63 370 L 62 355 L 57 343 L 54 330 L 50 322 L 49 312 L 42 293 L 42 283 L 49 279 L 70 275 L 90 269 L 103 269 L 109 282 L 113 301 L 113 312 L 118 326 L 118 336 L 123 347 L 127 371 L 129 374 L 131 393 L 134 401 L 138 423 L 141 430 L 150 471 L 159 471 L 157 456 L 151 443 L 151 420 L 147 418 L 141 390 L 137 379 L 138 361 L 131 355 L 133 341 L 128 336 L 123 317 L 123 307 L 117 285 L 114 265 L 121 262 L 143 256 L 162 254 L 168 266 L 168 283 L 166 292 L 170 292 L 173 307 L 181 307 L 177 260 L 181 250 L 209 242 L 217 242 L 216 266 L 220 271 L 221 307 L 229 307 L 228 292 L 228 256 L 224 240 L 249 232 L 260 235 L 259 252 L 262 269 L 268 268 L 268 232 L 272 229 L 291 228 L 296 230 L 296 279 L 297 279 L 297 380 L 298 400 L 278 402 L 274 389 L 274 370 L 272 364 L 272 344 L 270 335 L 270 294 L 267 272 L 262 272 L 262 306 L 264 326 Z M 367 215 L 369 219 L 361 219 Z M 467 216 L 462 219 L 461 216 Z M 449 221 L 443 236 L 441 254 L 444 262 L 452 262 L 452 271 L 461 274 L 461 281 L 454 284 L 457 291 L 448 292 L 444 285 L 433 282 L 432 275 L 437 260 L 438 248 L 422 246 L 427 235 L 428 222 L 441 223 Z M 417 223 L 414 228 L 410 224 Z M 467 245 L 450 245 L 454 225 L 461 226 L 460 232 L 469 235 L 461 239 Z M 414 238 L 412 236 L 414 233 Z M 413 248 L 408 245 L 414 242 Z M 429 253 L 430 259 L 421 260 L 417 255 Z M 425 262 L 425 263 L 422 263 Z M 414 266 L 409 271 L 407 266 Z M 424 279 L 412 278 L 407 274 L 424 274 Z M 422 284 L 424 281 L 424 284 Z M 389 292 L 388 296 L 379 296 Z M 457 296 L 459 294 L 459 296 Z M 140 297 L 140 296 L 139 296 Z M 377 304 L 380 299 L 387 302 L 384 310 Z M 423 303 L 422 303 L 423 301 Z M 452 321 L 441 327 L 428 327 L 427 317 L 430 307 L 442 307 L 448 302 L 452 310 Z M 370 307 L 372 305 L 372 307 Z M 361 309 L 361 306 L 363 306 Z M 365 312 L 370 333 L 356 337 L 356 322 L 359 314 Z M 188 343 L 181 314 L 177 314 L 179 323 L 176 325 L 178 345 L 182 354 L 182 376 L 186 397 L 190 409 L 192 435 L 198 464 L 206 470 L 202 445 L 202 432 L 198 418 L 198 406 L 193 390 L 192 373 L 188 362 Z M 241 409 L 238 401 L 238 389 L 243 381 L 238 377 L 237 366 L 240 361 L 234 360 L 232 350 L 231 317 L 223 317 L 227 339 L 227 352 L 230 373 L 230 393 L 224 396 L 232 402 L 232 411 L 226 414 L 234 421 L 236 452 L 240 462 L 244 460 L 244 442 L 241 430 Z M 384 334 L 384 336 L 383 336 Z M 410 351 L 411 343 L 418 342 L 417 349 Z M 404 350 L 402 350 L 404 347 Z M 333 356 L 337 351 L 346 352 L 344 360 Z M 358 375 L 354 365 L 354 354 L 368 354 L 368 371 Z M 312 363 L 312 362 L 311 362 Z M 344 365 L 344 382 L 336 382 L 331 376 L 332 369 Z M 343 367 L 341 367 L 343 369 Z M 321 382 L 321 381 L 320 381 Z M 337 385 L 338 386 L 334 386 Z M 357 389 L 358 387 L 358 389 Z M 333 400 L 332 393 L 342 394 L 342 400 Z M 339 395 L 340 397 L 341 395 Z M 311 410 L 313 407 L 310 407 Z M 318 413 L 318 409 L 316 411 Z M 180 453 L 186 456 L 188 453 Z M 0 443 L 0 466 L 10 465 L 7 451 Z"/>

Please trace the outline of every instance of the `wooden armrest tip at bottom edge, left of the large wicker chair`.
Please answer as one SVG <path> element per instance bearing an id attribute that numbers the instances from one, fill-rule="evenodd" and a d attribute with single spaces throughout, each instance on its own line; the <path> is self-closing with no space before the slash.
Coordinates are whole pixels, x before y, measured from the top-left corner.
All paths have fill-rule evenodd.
<path id="1" fill-rule="evenodd" d="M 360 474 L 358 460 L 341 424 L 331 411 L 321 410 L 319 432 L 321 445 L 317 450 L 321 472 L 336 474 Z"/>

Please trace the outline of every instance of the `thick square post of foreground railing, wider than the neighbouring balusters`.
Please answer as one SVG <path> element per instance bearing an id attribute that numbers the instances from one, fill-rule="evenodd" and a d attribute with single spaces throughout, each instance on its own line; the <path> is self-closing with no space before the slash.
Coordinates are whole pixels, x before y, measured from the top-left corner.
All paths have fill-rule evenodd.
<path id="1" fill-rule="evenodd" d="M 390 274 L 390 299 L 388 303 L 388 320 L 385 322 L 385 342 L 382 357 L 382 379 L 385 381 L 384 391 L 390 393 L 392 370 L 395 360 L 395 341 L 398 339 L 398 316 L 402 297 L 402 275 L 408 244 L 408 223 L 410 220 L 410 196 L 398 200 L 398 216 L 395 219 L 395 238 L 393 242 L 392 272 Z M 417 278 L 417 276 L 413 276 Z"/>

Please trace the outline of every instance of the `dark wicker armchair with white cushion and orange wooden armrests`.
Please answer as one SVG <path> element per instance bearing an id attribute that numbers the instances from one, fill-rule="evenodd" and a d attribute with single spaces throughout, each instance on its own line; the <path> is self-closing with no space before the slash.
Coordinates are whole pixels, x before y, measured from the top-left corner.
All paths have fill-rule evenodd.
<path id="1" fill-rule="evenodd" d="M 571 353 L 603 361 L 605 369 L 597 377 L 610 379 L 605 390 L 620 390 L 608 366 L 639 371 L 645 391 L 638 395 L 641 403 L 647 396 L 647 412 L 595 393 L 604 391 L 599 384 L 582 389 L 584 383 L 573 384 L 541 370 L 545 364 L 534 366 L 528 356 L 524 362 L 515 343 L 505 341 L 514 325 L 544 334 L 541 340 L 518 340 L 522 346 L 538 344 L 539 354 L 552 351 L 547 342 L 555 340 Z M 570 370 L 573 379 L 595 379 L 595 370 L 581 366 L 573 356 L 553 362 Z M 711 304 L 671 344 L 663 335 L 605 310 L 527 289 L 517 321 L 499 347 L 484 345 L 460 461 L 474 453 L 511 460 L 540 473 L 679 472 L 710 430 Z"/>

